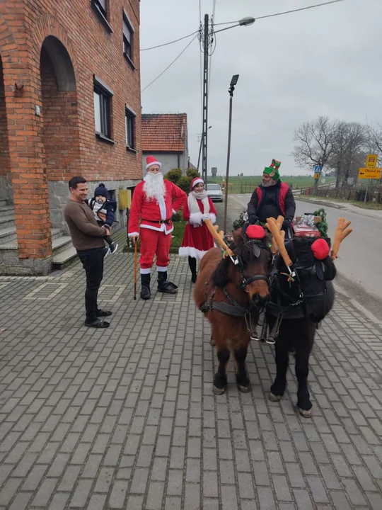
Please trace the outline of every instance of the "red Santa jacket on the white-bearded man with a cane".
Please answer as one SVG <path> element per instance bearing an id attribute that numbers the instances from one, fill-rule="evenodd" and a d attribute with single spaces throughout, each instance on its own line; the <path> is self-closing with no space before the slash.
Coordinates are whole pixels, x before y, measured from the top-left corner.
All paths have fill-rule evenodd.
<path id="1" fill-rule="evenodd" d="M 165 232 L 165 234 L 173 232 L 174 226 L 171 217 L 182 207 L 187 194 L 166 179 L 164 179 L 164 183 L 166 194 L 159 200 L 156 198 L 147 200 L 144 181 L 141 181 L 135 188 L 129 217 L 130 237 L 139 234 L 139 218 L 141 218 L 141 228 Z M 164 223 L 165 221 L 166 223 Z"/>

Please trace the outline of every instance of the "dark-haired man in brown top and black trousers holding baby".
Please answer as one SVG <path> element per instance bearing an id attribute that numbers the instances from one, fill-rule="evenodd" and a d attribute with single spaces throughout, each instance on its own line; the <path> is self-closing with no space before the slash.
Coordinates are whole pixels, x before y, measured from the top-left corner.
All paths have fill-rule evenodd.
<path id="1" fill-rule="evenodd" d="M 86 272 L 85 325 L 105 328 L 110 326 L 99 317 L 108 317 L 112 312 L 100 310 L 97 305 L 98 290 L 103 278 L 103 258 L 105 242 L 103 238 L 110 235 L 107 225 L 99 227 L 93 211 L 86 203 L 88 184 L 83 177 L 72 177 L 69 181 L 70 200 L 65 205 L 64 217 L 68 224 L 71 241 L 77 250 L 79 259 Z"/>

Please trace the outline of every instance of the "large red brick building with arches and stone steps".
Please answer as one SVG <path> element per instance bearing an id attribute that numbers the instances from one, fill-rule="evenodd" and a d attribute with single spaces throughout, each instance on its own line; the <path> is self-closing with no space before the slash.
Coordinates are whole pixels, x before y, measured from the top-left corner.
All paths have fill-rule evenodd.
<path id="1" fill-rule="evenodd" d="M 0 2 L 0 273 L 73 254 L 74 175 L 117 200 L 141 180 L 139 0 Z"/>

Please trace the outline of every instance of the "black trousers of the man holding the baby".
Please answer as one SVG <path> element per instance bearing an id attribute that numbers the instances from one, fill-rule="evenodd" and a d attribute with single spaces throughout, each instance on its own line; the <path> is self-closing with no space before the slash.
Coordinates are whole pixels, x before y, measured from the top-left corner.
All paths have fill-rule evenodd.
<path id="1" fill-rule="evenodd" d="M 79 259 L 82 262 L 86 273 L 85 310 L 86 322 L 91 323 L 97 319 L 98 312 L 98 290 L 103 278 L 104 248 L 78 251 Z"/>

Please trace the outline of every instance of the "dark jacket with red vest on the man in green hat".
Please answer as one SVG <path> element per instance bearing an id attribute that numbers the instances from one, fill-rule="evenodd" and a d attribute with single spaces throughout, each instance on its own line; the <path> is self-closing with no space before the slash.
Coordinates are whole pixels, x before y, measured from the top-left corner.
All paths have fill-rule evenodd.
<path id="1" fill-rule="evenodd" d="M 255 215 L 261 222 L 265 222 L 268 217 L 277 218 L 279 215 L 284 216 L 286 220 L 292 221 L 296 212 L 296 203 L 291 188 L 287 188 L 284 196 L 284 203 L 280 201 L 280 188 L 282 182 L 277 181 L 274 186 L 258 186 L 253 192 L 248 203 L 248 217 Z M 283 184 L 283 186 L 286 186 Z M 260 193 L 259 193 L 260 192 Z M 259 203 L 259 195 L 261 200 Z M 284 211 L 283 211 L 284 209 Z"/>

